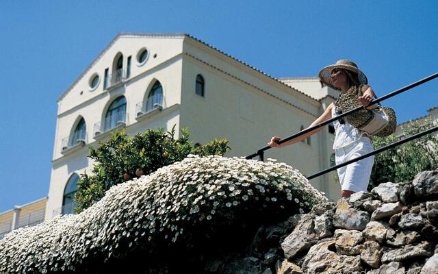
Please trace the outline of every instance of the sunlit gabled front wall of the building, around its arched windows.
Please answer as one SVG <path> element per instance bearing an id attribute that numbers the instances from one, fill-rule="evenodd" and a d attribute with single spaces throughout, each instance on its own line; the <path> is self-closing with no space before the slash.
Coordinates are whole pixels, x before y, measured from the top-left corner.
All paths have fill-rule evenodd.
<path id="1" fill-rule="evenodd" d="M 136 54 L 142 47 L 149 49 L 149 58 L 142 66 L 138 66 Z M 166 131 L 176 124 L 179 129 L 179 105 L 181 94 L 181 49 L 182 38 L 129 38 L 121 37 L 116 40 L 103 56 L 95 62 L 88 73 L 79 79 L 58 102 L 57 129 L 53 147 L 51 182 L 49 200 L 47 201 L 46 219 L 53 217 L 53 210 L 62 206 L 64 188 L 73 173 L 80 175 L 85 170 L 92 173 L 95 162 L 88 158 L 88 145 L 97 147 L 98 141 L 105 138 L 94 138 L 94 124 L 105 118 L 105 113 L 114 99 L 125 96 L 127 101 L 126 132 L 133 136 L 146 129 L 164 127 Z M 127 66 L 127 56 L 132 55 L 131 77 L 120 87 L 110 91 L 103 89 L 103 73 L 105 68 L 112 67 L 113 59 L 118 52 L 124 56 Z M 156 58 L 153 58 L 154 54 Z M 99 72 L 101 81 L 95 90 L 90 91 L 88 82 L 94 72 Z M 110 72 L 111 73 L 111 72 Z M 163 110 L 149 115 L 144 119 L 136 119 L 136 104 L 146 99 L 155 81 L 163 88 Z M 83 95 L 80 92 L 83 91 Z M 86 146 L 72 153 L 63 155 L 62 139 L 71 136 L 79 120 L 83 117 L 86 122 Z M 179 132 L 175 134 L 176 138 Z"/>

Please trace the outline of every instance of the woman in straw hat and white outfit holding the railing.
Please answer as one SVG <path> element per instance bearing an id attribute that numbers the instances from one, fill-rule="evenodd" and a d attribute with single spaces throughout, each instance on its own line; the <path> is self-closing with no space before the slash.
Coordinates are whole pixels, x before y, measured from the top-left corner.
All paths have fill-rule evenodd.
<path id="1" fill-rule="evenodd" d="M 357 94 L 359 85 L 363 84 L 361 96 L 357 99 L 369 110 L 376 106 L 376 104 L 368 106 L 372 101 L 372 88 L 371 86 L 368 86 L 368 79 L 365 74 L 358 69 L 354 62 L 351 62 L 350 60 L 339 60 L 336 64 L 324 67 L 318 75 L 324 84 L 335 90 L 339 90 L 342 93 Z M 324 113 L 318 117 L 318 119 L 313 121 L 309 127 L 313 127 L 313 125 L 317 125 L 339 115 L 340 112 L 337 102 L 338 100 L 335 101 L 335 103 L 331 103 Z M 333 149 L 335 149 L 336 164 L 341 164 L 342 162 L 346 162 L 350 159 L 357 158 L 360 155 L 374 151 L 371 142 L 372 138 L 366 132 L 350 125 L 344 117 L 333 123 L 335 126 L 335 141 L 333 143 Z M 307 134 L 302 134 L 301 136 L 288 140 L 287 142 L 283 142 L 281 145 L 276 143 L 280 140 L 280 137 L 274 136 L 271 138 L 271 141 L 268 142 L 268 145 L 277 148 L 286 147 L 287 145 L 292 145 L 301 140 L 305 140 L 323 128 L 324 127 L 313 129 L 313 131 L 307 132 Z M 373 165 L 374 155 L 337 169 L 339 182 L 341 184 L 342 197 L 350 197 L 352 193 L 358 191 L 367 191 Z"/>

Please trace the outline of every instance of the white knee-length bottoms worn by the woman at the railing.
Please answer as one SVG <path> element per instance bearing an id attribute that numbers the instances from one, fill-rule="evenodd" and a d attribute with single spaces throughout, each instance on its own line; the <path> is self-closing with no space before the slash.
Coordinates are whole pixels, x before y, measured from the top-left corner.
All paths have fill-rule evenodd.
<path id="1" fill-rule="evenodd" d="M 371 151 L 374 151 L 374 147 L 370 138 L 362 136 L 347 147 L 335 149 L 335 162 L 336 164 L 342 164 Z M 337 169 L 341 190 L 368 192 L 367 188 L 370 183 L 373 165 L 374 155 Z"/>

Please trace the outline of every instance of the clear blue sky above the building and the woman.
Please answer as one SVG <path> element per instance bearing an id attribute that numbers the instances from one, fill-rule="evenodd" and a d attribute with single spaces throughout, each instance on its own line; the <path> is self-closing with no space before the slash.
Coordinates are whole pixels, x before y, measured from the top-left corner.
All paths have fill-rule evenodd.
<path id="1" fill-rule="evenodd" d="M 119 32 L 192 34 L 273 77 L 349 59 L 381 97 L 438 71 L 437 14 L 435 0 L 3 1 L 0 212 L 48 195 L 56 99 Z M 437 79 L 383 105 L 424 116 Z"/>

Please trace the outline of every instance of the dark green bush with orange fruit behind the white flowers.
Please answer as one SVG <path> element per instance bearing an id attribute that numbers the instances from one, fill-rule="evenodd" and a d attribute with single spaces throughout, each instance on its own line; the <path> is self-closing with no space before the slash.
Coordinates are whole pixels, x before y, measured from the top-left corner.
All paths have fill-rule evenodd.
<path id="1" fill-rule="evenodd" d="M 205 145 L 192 147 L 189 136 L 188 128 L 183 127 L 181 136 L 175 140 L 175 125 L 170 132 L 164 132 L 164 127 L 160 127 L 132 137 L 122 129 L 114 132 L 107 142 L 99 141 L 97 149 L 88 146 L 88 157 L 96 164 L 92 169 L 93 175 L 81 174 L 77 182 L 75 212 L 90 207 L 105 195 L 106 190 L 138 177 L 141 172 L 149 175 L 162 166 L 183 160 L 188 154 L 224 155 L 231 149 L 226 139 L 214 139 Z"/>

